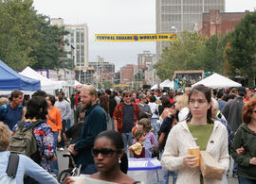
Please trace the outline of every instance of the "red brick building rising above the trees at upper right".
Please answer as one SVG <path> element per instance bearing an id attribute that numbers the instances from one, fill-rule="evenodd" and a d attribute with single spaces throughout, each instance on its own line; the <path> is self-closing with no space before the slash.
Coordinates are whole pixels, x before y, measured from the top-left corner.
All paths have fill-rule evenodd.
<path id="1" fill-rule="evenodd" d="M 220 12 L 218 9 L 210 9 L 209 13 L 203 13 L 202 21 L 198 24 L 198 33 L 211 37 L 212 35 L 228 34 L 233 31 L 235 25 L 246 16 L 246 12 Z"/>

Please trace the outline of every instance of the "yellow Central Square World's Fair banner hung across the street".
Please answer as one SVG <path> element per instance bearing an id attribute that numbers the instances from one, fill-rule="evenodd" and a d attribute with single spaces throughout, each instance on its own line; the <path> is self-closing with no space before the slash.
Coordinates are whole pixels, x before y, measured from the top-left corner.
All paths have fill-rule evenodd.
<path id="1" fill-rule="evenodd" d="M 96 42 L 159 42 L 177 41 L 176 33 L 162 34 L 95 34 Z"/>

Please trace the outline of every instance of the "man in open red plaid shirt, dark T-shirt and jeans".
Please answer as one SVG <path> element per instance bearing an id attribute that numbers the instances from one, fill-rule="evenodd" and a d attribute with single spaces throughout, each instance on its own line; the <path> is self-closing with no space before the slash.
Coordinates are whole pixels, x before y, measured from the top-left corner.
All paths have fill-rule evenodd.
<path id="1" fill-rule="evenodd" d="M 138 105 L 131 101 L 132 92 L 123 91 L 123 102 L 119 103 L 113 113 L 114 128 L 121 133 L 124 142 L 124 151 L 133 142 L 132 128 L 137 125 L 137 115 L 140 113 Z"/>

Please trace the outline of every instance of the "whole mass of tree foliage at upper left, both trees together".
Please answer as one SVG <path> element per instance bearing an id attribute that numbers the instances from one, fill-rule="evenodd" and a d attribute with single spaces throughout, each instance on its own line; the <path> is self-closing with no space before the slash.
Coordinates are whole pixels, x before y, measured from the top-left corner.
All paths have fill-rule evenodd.
<path id="1" fill-rule="evenodd" d="M 32 0 L 0 0 L 0 59 L 14 70 L 71 68 L 64 27 L 38 15 Z"/>

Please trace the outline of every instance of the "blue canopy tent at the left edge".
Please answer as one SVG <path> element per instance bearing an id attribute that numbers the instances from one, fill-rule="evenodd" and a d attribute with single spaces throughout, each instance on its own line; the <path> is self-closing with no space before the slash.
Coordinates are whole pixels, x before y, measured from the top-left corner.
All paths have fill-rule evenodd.
<path id="1" fill-rule="evenodd" d="M 20 75 L 0 60 L 0 91 L 38 91 L 41 88 L 40 80 Z"/>

